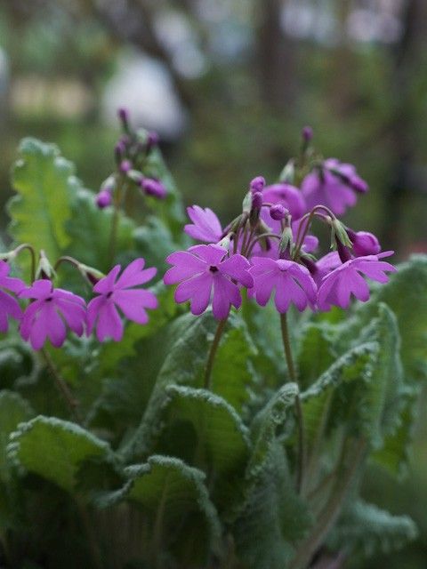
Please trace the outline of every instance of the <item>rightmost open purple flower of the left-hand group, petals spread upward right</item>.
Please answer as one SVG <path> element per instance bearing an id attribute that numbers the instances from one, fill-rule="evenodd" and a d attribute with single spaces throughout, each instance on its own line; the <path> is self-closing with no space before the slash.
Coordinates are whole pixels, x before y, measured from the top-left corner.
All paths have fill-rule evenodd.
<path id="1" fill-rule="evenodd" d="M 153 293 L 135 289 L 138 284 L 147 283 L 157 273 L 157 268 L 144 267 L 145 260 L 136 259 L 128 265 L 117 279 L 121 266 L 116 265 L 107 276 L 93 286 L 98 293 L 87 305 L 87 333 L 96 328 L 99 341 L 111 337 L 120 341 L 123 337 L 123 322 L 117 312 L 120 309 L 128 320 L 138 324 L 147 324 L 149 317 L 146 309 L 157 308 L 157 298 Z M 117 280 L 116 280 L 117 279 Z"/>

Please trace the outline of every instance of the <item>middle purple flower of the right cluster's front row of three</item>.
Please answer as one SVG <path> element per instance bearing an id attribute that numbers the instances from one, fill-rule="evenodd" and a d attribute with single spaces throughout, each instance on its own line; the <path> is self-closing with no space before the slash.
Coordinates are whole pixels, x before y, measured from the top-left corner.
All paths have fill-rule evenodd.
<path id="1" fill-rule="evenodd" d="M 252 262 L 250 273 L 254 276 L 254 288 L 250 295 L 258 304 L 265 306 L 276 289 L 274 302 L 279 312 L 286 312 L 291 302 L 298 310 L 308 305 L 314 309 L 317 289 L 308 268 L 294 260 L 255 257 Z"/>

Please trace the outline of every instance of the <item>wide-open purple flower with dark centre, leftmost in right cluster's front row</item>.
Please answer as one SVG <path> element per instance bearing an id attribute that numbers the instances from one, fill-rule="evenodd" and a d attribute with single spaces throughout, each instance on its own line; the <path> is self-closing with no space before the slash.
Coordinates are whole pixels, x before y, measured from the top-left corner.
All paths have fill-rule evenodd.
<path id="1" fill-rule="evenodd" d="M 226 255 L 227 251 L 213 244 L 195 245 L 188 251 L 169 255 L 166 260 L 173 268 L 166 272 L 164 281 L 180 283 L 175 301 L 190 301 L 191 312 L 199 315 L 207 309 L 212 297 L 214 317 L 218 320 L 229 315 L 231 305 L 238 309 L 242 298 L 235 282 L 251 287 L 254 279 L 245 257 L 235 254 L 224 259 Z"/>

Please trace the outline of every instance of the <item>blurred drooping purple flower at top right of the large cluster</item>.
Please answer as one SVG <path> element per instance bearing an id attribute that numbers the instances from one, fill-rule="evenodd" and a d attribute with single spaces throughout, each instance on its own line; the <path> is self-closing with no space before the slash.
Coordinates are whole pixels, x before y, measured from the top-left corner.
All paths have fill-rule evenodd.
<path id="1" fill-rule="evenodd" d="M 328 158 L 321 169 L 310 172 L 302 180 L 301 190 L 309 209 L 326 205 L 336 215 L 342 215 L 356 204 L 357 193 L 367 192 L 367 183 L 358 176 L 353 165 Z"/>

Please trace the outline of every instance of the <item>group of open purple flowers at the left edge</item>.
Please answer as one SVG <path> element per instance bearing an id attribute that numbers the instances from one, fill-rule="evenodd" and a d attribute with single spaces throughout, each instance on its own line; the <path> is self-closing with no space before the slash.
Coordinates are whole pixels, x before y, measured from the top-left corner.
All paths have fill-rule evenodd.
<path id="1" fill-rule="evenodd" d="M 86 307 L 82 297 L 55 288 L 50 278 L 37 278 L 29 286 L 19 278 L 12 278 L 9 264 L 0 260 L 0 331 L 7 332 L 10 318 L 18 320 L 20 335 L 33 349 L 43 348 L 47 340 L 60 348 L 67 329 L 77 336 L 82 336 L 85 331 L 90 335 L 95 330 L 99 341 L 109 337 L 120 341 L 124 325 L 119 311 L 127 319 L 144 325 L 149 319 L 146 309 L 157 308 L 153 293 L 135 288 L 156 275 L 156 268 L 144 269 L 144 264 L 143 259 L 136 259 L 120 276 L 121 267 L 117 265 L 107 276 L 95 279 L 93 293 L 97 296 Z M 86 272 L 90 269 L 77 261 L 76 266 Z M 95 270 L 89 270 L 89 273 L 92 276 L 99 274 Z M 22 308 L 20 300 L 26 299 L 29 304 Z"/>

